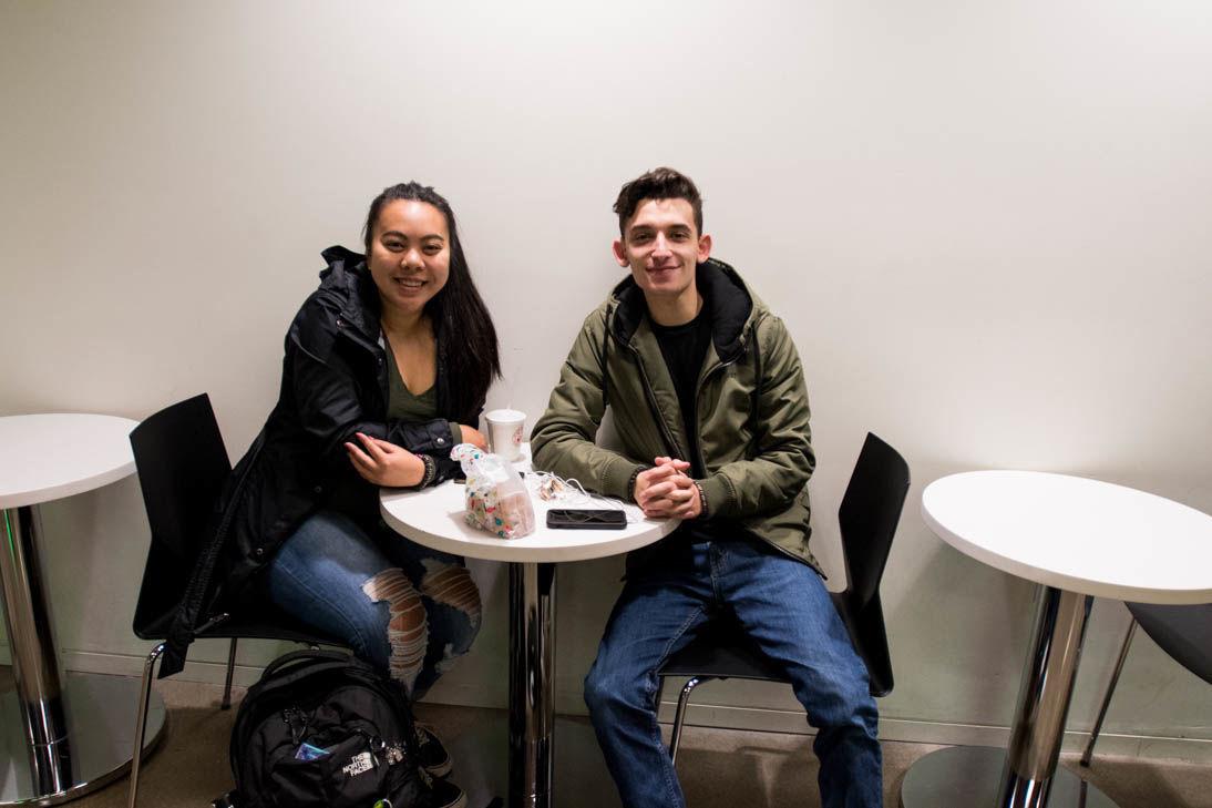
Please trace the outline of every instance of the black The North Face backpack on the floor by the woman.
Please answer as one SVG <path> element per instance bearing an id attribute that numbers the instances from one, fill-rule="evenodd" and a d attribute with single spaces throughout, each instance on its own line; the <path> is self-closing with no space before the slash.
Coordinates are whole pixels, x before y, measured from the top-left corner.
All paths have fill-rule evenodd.
<path id="1" fill-rule="evenodd" d="M 231 730 L 239 808 L 431 808 L 399 683 L 342 651 L 274 660 Z"/>

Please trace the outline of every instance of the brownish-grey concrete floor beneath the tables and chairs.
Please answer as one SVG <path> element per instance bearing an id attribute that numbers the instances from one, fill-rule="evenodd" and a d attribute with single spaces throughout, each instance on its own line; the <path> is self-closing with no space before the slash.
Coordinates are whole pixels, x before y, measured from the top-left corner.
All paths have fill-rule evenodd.
<path id="1" fill-rule="evenodd" d="M 7 671 L 0 668 L 0 689 Z M 145 763 L 139 804 L 183 808 L 210 804 L 231 787 L 228 742 L 235 710 L 221 712 L 221 688 L 167 681 L 159 683 L 170 709 L 164 744 Z M 419 705 L 419 717 L 435 724 L 456 761 L 453 779 L 467 789 L 470 808 L 484 808 L 499 792 L 505 767 L 503 711 Z M 133 723 L 133 715 L 131 716 Z M 558 728 L 556 804 L 561 808 L 618 806 L 593 734 L 583 719 Z M 817 808 L 816 758 L 804 735 L 687 728 L 678 761 L 691 808 Z M 885 804 L 898 806 L 901 781 L 919 757 L 938 746 L 886 741 Z M 1077 770 L 1067 756 L 1063 764 Z M 1173 761 L 1096 757 L 1087 779 L 1120 808 L 1212 808 L 1212 767 Z M 128 780 L 74 801 L 79 808 L 121 808 Z M 947 807 L 950 808 L 950 807 Z M 955 807 L 962 808 L 962 807 Z"/>

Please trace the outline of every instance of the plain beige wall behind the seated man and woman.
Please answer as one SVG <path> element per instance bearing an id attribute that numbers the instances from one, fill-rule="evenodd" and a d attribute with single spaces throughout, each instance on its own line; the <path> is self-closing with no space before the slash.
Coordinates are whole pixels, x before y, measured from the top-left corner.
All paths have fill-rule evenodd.
<path id="1" fill-rule="evenodd" d="M 800 346 L 835 582 L 863 434 L 913 467 L 884 587 L 885 733 L 996 735 L 1031 588 L 936 539 L 921 485 L 1040 468 L 1212 511 L 1210 85 L 1212 10 L 1178 0 L 6 0 L 0 412 L 142 417 L 207 391 L 239 455 L 319 251 L 356 246 L 370 198 L 418 178 L 454 204 L 497 322 L 490 404 L 537 414 L 618 277 L 613 194 L 668 163 Z M 65 664 L 137 670 L 137 485 L 45 517 Z M 501 705 L 504 580 L 473 567 L 488 619 L 433 698 Z M 582 709 L 618 573 L 561 569 L 561 710 Z M 1071 726 L 1090 724 L 1125 625 L 1097 604 Z M 245 649 L 241 677 L 275 650 Z M 183 676 L 216 679 L 223 648 L 191 659 Z M 802 727 L 783 688 L 699 701 L 704 722 Z M 1121 750 L 1212 757 L 1207 685 L 1148 639 L 1108 727 L 1205 741 Z"/>

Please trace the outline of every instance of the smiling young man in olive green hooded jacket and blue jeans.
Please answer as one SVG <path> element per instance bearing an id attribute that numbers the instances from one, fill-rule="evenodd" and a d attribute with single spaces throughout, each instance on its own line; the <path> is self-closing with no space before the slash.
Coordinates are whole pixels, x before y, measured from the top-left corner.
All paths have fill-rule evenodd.
<path id="1" fill-rule="evenodd" d="M 684 520 L 628 557 L 585 679 L 623 804 L 685 804 L 657 724 L 656 671 L 709 621 L 730 620 L 783 666 L 817 728 L 823 804 L 880 806 L 867 668 L 808 552 L 816 459 L 795 346 L 710 258 L 688 177 L 650 171 L 623 186 L 614 211 L 614 258 L 631 274 L 585 319 L 531 445 L 538 468 Z M 594 444 L 607 405 L 619 453 Z"/>

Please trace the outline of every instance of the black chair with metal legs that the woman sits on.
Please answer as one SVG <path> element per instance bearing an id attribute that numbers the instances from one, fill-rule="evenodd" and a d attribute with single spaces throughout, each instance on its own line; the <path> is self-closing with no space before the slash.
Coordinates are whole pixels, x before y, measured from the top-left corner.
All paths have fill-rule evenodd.
<path id="1" fill-rule="evenodd" d="M 215 421 L 211 399 L 205 393 L 149 416 L 131 432 L 131 448 L 152 527 L 152 546 L 143 569 L 133 627 L 141 639 L 164 641 L 181 605 L 198 556 L 208 539 L 211 514 L 231 471 L 231 463 Z M 310 645 L 342 644 L 316 635 L 288 615 L 268 607 L 256 615 L 218 615 L 199 627 L 194 637 L 231 639 L 223 710 L 231 706 L 231 673 L 235 670 L 238 639 L 282 639 Z M 131 758 L 130 808 L 135 808 L 138 795 L 152 673 L 164 649 L 165 644 L 160 642 L 143 665 L 143 689 L 139 694 L 135 753 Z"/>

